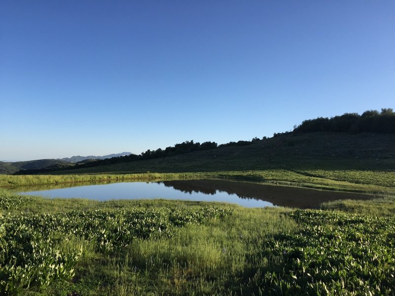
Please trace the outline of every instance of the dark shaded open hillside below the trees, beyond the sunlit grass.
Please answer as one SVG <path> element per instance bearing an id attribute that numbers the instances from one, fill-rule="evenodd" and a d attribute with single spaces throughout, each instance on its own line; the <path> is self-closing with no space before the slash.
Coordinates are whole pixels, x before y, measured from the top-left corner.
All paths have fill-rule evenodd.
<path id="1" fill-rule="evenodd" d="M 215 172 L 278 167 L 292 170 L 394 170 L 395 134 L 288 133 L 247 146 L 220 147 L 172 157 L 53 173 Z"/>

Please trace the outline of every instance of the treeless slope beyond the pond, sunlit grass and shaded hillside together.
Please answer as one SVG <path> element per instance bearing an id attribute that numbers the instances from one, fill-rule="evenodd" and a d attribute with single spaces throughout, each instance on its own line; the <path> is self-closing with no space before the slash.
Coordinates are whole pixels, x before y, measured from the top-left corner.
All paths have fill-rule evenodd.
<path id="1" fill-rule="evenodd" d="M 131 178 L 130 175 L 120 176 L 122 174 L 145 174 L 139 176 L 148 180 L 153 178 L 154 172 L 157 173 L 154 174 L 156 178 L 168 178 L 163 176 L 163 173 L 181 173 L 175 178 L 196 178 L 196 173 L 199 173 L 199 176 L 214 178 L 394 194 L 395 135 L 286 134 L 249 146 L 223 147 L 173 157 L 58 171 L 52 174 L 105 174 L 112 179 Z M 55 180 L 54 176 L 41 178 L 44 179 L 36 182 L 51 183 L 49 180 Z M 96 179 L 92 176 L 58 178 L 58 183 L 64 178 L 79 181 Z M 21 181 L 18 181 L 16 176 L 0 176 L 0 185 L 12 182 L 19 184 Z"/>

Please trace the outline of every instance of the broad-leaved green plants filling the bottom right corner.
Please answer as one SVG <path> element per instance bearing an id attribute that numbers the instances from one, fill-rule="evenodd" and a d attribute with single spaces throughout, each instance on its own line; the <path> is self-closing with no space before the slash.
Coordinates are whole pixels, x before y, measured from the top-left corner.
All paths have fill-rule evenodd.
<path id="1" fill-rule="evenodd" d="M 301 229 L 272 239 L 266 248 L 281 263 L 258 281 L 264 294 L 394 294 L 394 216 L 320 210 L 298 210 L 289 216 Z"/>

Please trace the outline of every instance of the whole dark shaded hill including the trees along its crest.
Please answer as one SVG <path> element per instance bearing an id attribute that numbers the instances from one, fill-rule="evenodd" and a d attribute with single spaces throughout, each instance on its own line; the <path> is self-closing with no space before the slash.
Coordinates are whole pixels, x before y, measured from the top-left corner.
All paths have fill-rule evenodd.
<path id="1" fill-rule="evenodd" d="M 345 113 L 331 118 L 304 120 L 293 132 L 273 138 L 195 143 L 147 150 L 73 166 L 23 166 L 18 174 L 129 174 L 218 172 L 237 170 L 392 170 L 395 155 L 395 112 L 392 108 Z M 109 155 L 107 155 L 109 156 Z M 65 159 L 70 160 L 70 159 Z M 15 166 L 15 164 L 12 164 Z M 49 169 L 48 169 L 49 167 Z M 61 169 L 56 172 L 55 170 Z M 13 167 L 9 167 L 11 171 Z M 34 171 L 34 170 L 41 171 Z M 69 170 L 70 169 L 70 170 Z M 306 173 L 312 175 L 314 173 Z"/>

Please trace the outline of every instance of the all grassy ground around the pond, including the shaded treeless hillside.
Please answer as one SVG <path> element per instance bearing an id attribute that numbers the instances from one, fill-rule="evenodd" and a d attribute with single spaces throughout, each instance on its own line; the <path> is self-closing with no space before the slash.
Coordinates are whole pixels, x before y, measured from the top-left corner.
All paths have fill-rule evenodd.
<path id="1" fill-rule="evenodd" d="M 249 146 L 51 175 L 0 175 L 0 294 L 394 295 L 394 140 L 281 135 Z M 207 178 L 374 198 L 314 210 L 247 209 L 160 199 L 45 199 L 11 191 Z"/>

